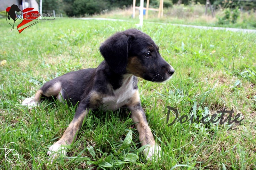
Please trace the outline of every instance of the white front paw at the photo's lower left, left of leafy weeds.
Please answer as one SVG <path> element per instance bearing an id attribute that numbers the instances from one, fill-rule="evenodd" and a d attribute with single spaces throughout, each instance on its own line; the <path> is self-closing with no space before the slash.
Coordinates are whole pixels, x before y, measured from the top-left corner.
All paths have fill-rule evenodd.
<path id="1" fill-rule="evenodd" d="M 49 147 L 49 151 L 47 152 L 47 155 L 50 157 L 49 160 L 53 162 L 53 159 L 56 159 L 61 154 L 67 155 L 67 148 L 64 147 L 63 144 L 53 144 Z"/>

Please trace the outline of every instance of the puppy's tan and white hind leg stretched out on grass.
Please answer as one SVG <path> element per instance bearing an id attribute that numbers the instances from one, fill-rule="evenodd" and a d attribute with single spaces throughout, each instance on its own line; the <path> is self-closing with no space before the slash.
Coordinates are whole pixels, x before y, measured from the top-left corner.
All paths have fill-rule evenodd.
<path id="1" fill-rule="evenodd" d="M 34 98 L 29 97 L 22 102 L 22 105 L 28 106 L 29 108 L 33 108 L 39 106 L 40 97 L 44 95 L 46 97 L 56 96 L 58 100 L 61 99 L 61 83 L 60 81 L 49 81 L 45 83 L 37 92 Z"/>

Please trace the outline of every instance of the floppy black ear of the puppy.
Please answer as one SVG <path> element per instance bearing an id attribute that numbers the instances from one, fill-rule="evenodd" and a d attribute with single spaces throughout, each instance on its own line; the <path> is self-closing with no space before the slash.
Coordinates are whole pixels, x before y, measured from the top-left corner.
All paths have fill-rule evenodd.
<path id="1" fill-rule="evenodd" d="M 118 74 L 126 70 L 129 37 L 124 33 L 116 33 L 100 46 L 100 53 L 105 58 L 111 70 Z"/>

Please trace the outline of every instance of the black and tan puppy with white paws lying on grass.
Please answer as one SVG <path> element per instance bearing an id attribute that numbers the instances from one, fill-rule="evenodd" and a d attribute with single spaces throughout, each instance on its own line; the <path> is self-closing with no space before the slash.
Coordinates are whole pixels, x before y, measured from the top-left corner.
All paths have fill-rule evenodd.
<path id="1" fill-rule="evenodd" d="M 152 159 L 161 148 L 154 137 L 140 104 L 137 77 L 148 81 L 163 82 L 171 78 L 174 69 L 159 54 L 154 41 L 145 33 L 129 29 L 118 32 L 100 46 L 104 61 L 97 68 L 69 72 L 45 83 L 35 97 L 27 98 L 23 105 L 36 106 L 41 96 L 56 97 L 73 105 L 79 102 L 76 114 L 64 132 L 47 154 L 54 159 L 57 153 L 64 153 L 65 145 L 76 138 L 89 109 L 113 110 L 128 108 L 139 131 L 141 145 L 146 159 Z"/>

